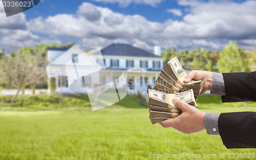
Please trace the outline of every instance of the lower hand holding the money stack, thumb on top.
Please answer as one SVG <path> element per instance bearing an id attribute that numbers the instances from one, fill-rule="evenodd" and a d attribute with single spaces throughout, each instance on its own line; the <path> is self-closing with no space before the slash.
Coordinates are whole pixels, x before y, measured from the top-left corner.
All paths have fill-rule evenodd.
<path id="1" fill-rule="evenodd" d="M 199 132 L 205 129 L 205 112 L 200 111 L 196 107 L 188 105 L 184 101 L 177 98 L 173 99 L 173 103 L 182 110 L 181 115 L 174 119 L 159 122 L 159 124 L 161 124 L 163 127 L 173 127 L 186 134 Z"/>

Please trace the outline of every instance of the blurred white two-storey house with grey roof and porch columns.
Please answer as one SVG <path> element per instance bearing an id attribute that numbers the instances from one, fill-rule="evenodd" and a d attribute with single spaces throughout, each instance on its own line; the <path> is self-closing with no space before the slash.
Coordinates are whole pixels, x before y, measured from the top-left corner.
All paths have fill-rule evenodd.
<path id="1" fill-rule="evenodd" d="M 130 44 L 111 44 L 101 50 L 101 55 L 86 55 L 86 58 L 79 60 L 78 55 L 84 52 L 77 45 L 71 48 L 48 48 L 48 79 L 54 77 L 56 93 L 74 93 L 69 89 L 66 63 L 70 59 L 78 57 L 76 58 L 76 68 L 84 73 L 90 74 L 106 68 L 110 72 L 110 78 L 116 79 L 118 76 L 116 70 L 118 68 L 123 70 L 127 92 L 138 93 L 140 89 L 145 91 L 147 85 L 154 86 L 155 79 L 163 67 L 160 50 L 160 47 L 156 46 L 153 54 Z M 91 82 L 87 83 L 89 83 L 87 86 L 90 86 Z M 81 87 L 84 87 L 82 82 L 80 84 Z M 80 91 L 80 93 L 85 92 L 85 89 Z"/>

